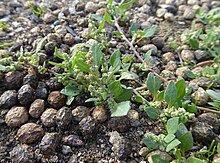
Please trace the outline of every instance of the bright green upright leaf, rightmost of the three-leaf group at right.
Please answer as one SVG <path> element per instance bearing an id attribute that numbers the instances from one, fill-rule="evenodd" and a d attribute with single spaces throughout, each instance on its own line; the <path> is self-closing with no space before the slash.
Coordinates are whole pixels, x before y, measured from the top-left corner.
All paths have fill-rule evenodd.
<path id="1" fill-rule="evenodd" d="M 176 82 L 177 98 L 176 102 L 183 99 L 186 94 L 186 82 L 184 79 L 180 79 Z"/>

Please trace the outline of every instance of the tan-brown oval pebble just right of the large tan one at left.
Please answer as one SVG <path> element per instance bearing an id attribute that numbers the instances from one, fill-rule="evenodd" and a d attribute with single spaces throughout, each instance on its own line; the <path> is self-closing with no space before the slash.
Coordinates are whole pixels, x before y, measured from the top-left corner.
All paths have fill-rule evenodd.
<path id="1" fill-rule="evenodd" d="M 39 118 L 44 111 L 44 100 L 36 99 L 29 108 L 29 114 L 34 118 Z"/>

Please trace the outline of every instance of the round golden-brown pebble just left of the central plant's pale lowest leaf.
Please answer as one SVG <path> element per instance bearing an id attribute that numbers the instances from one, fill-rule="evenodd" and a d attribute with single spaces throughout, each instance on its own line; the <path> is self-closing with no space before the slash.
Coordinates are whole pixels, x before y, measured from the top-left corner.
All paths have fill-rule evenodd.
<path id="1" fill-rule="evenodd" d="M 103 123 L 107 120 L 107 108 L 103 106 L 96 106 L 92 112 L 92 118 L 99 123 Z"/>

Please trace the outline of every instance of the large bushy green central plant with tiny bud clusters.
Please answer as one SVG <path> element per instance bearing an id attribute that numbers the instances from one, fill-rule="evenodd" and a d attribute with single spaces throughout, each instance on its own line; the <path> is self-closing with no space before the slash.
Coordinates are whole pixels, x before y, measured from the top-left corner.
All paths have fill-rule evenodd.
<path id="1" fill-rule="evenodd" d="M 63 62 L 50 63 L 64 68 L 64 73 L 56 76 L 65 85 L 61 93 L 68 96 L 68 105 L 80 93 L 89 93 L 91 98 L 86 99 L 86 102 L 108 106 L 112 116 L 127 114 L 133 91 L 121 84 L 121 80 L 130 76 L 120 74 L 122 63 L 119 50 L 111 54 L 110 65 L 107 65 L 101 46 L 96 43 L 75 45 L 70 56 L 59 54 L 57 49 L 55 53 Z"/>

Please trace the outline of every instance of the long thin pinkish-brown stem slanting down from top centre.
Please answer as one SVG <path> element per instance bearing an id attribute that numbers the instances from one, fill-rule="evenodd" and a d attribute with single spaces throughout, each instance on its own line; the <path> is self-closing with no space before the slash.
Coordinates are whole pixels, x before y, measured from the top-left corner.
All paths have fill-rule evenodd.
<path id="1" fill-rule="evenodd" d="M 147 63 L 144 61 L 144 59 L 140 56 L 140 54 L 137 52 L 137 50 L 135 49 L 134 45 L 132 44 L 132 42 L 130 42 L 127 37 L 125 36 L 124 32 L 122 31 L 121 27 L 118 24 L 118 19 L 114 16 L 114 21 L 115 21 L 115 27 L 117 28 L 117 30 L 119 31 L 119 33 L 121 33 L 122 38 L 127 42 L 127 44 L 130 46 L 131 50 L 134 52 L 134 54 L 136 55 L 136 57 L 144 64 L 144 66 L 147 66 Z M 152 68 L 150 69 L 151 72 L 153 72 L 157 77 L 159 77 L 163 82 L 167 82 L 166 79 L 164 79 L 163 77 L 161 77 L 159 74 L 157 74 Z"/>

